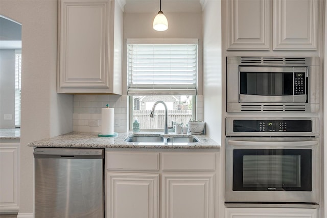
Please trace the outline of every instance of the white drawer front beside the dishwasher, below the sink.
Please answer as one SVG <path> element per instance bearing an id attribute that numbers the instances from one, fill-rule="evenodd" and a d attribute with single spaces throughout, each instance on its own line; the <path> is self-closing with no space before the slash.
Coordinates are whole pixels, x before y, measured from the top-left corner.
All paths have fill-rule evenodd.
<path id="1" fill-rule="evenodd" d="M 158 171 L 157 152 L 106 152 L 106 169 Z"/>

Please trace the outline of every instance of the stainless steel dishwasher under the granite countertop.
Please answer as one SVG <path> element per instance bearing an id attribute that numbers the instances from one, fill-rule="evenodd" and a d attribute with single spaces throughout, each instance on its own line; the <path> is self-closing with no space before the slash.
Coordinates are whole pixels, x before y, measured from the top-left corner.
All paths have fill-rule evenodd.
<path id="1" fill-rule="evenodd" d="M 104 149 L 35 148 L 35 218 L 104 217 Z"/>

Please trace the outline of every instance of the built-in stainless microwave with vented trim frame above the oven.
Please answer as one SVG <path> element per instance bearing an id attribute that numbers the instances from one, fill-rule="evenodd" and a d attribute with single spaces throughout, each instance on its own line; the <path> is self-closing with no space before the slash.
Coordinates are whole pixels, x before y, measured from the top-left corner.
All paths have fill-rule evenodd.
<path id="1" fill-rule="evenodd" d="M 319 57 L 227 57 L 227 112 L 318 112 Z"/>

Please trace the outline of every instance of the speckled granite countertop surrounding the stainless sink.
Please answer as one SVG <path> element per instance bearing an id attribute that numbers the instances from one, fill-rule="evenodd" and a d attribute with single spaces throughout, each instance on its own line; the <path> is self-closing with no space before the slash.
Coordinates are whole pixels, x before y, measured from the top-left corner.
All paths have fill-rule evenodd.
<path id="1" fill-rule="evenodd" d="M 140 135 L 145 132 L 139 133 Z M 149 133 L 149 132 L 147 132 Z M 28 143 L 30 147 L 51 148 L 145 148 L 145 149 L 220 149 L 220 144 L 205 135 L 195 135 L 199 142 L 192 143 L 159 143 L 159 142 L 126 142 L 124 139 L 132 132 L 118 133 L 116 137 L 99 137 L 95 132 L 71 132 L 51 138 Z M 150 134 L 158 134 L 151 132 Z M 159 133 L 160 135 L 167 136 Z M 173 135 L 175 133 L 170 133 Z"/>

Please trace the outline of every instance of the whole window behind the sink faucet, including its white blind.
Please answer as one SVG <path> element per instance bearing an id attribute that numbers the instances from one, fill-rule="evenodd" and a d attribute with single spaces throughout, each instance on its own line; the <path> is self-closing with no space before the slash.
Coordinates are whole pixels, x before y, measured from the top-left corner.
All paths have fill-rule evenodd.
<path id="1" fill-rule="evenodd" d="M 195 117 L 198 39 L 128 39 L 128 95 L 130 129 L 137 116 L 142 130 L 164 129 L 164 105 L 168 125 L 186 124 Z"/>

